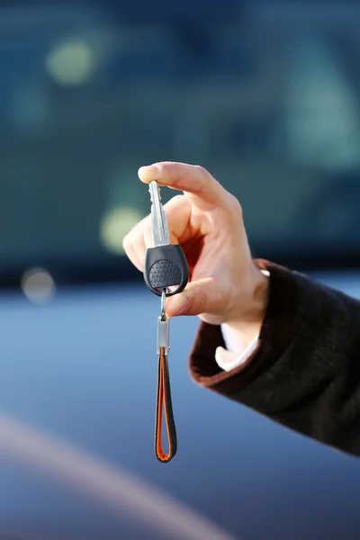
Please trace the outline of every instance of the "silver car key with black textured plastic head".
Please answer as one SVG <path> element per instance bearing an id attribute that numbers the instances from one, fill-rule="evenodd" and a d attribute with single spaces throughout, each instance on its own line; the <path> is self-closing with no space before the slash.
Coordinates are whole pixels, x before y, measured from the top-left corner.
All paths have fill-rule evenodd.
<path id="1" fill-rule="evenodd" d="M 166 213 L 161 204 L 160 188 L 155 180 L 150 182 L 151 226 L 154 247 L 145 254 L 144 280 L 151 293 L 166 296 L 181 293 L 189 280 L 189 267 L 181 246 L 170 244 Z M 170 289 L 175 287 L 175 289 Z"/>

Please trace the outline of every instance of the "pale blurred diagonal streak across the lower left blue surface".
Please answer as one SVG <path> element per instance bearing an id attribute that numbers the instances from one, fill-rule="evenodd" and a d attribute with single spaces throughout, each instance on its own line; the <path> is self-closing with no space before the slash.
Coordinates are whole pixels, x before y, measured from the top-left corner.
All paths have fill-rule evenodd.
<path id="1" fill-rule="evenodd" d="M 4 415 L 0 417 L 0 450 L 158 535 L 174 540 L 234 540 L 167 493 Z"/>

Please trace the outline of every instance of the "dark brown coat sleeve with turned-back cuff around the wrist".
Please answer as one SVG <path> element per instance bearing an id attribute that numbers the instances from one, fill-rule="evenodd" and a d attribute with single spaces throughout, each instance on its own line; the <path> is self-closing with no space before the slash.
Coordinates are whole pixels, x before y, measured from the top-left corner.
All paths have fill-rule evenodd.
<path id="1" fill-rule="evenodd" d="M 193 381 L 305 436 L 360 455 L 360 302 L 265 260 L 270 294 L 259 347 L 223 372 L 220 326 L 201 323 Z"/>

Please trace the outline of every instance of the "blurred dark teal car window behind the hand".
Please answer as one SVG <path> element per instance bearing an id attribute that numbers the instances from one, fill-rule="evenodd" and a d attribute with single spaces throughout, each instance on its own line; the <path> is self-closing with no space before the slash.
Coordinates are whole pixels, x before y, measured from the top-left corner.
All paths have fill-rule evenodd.
<path id="1" fill-rule="evenodd" d="M 207 167 L 257 255 L 357 249 L 356 12 L 217 5 L 4 4 L 3 267 L 120 260 L 149 211 L 137 170 L 158 160 Z"/>

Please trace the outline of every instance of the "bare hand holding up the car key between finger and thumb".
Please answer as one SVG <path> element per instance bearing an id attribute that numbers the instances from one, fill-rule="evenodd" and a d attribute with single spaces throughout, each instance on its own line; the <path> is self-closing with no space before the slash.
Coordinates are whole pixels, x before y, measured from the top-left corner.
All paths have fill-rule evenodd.
<path id="1" fill-rule="evenodd" d="M 167 299 L 167 315 L 227 322 L 251 340 L 265 315 L 268 286 L 252 260 L 238 200 L 201 166 L 142 166 L 139 179 L 184 192 L 164 205 L 170 242 L 183 247 L 190 271 L 184 291 Z M 153 247 L 150 216 L 130 230 L 123 247 L 143 272 L 145 250 Z"/>

